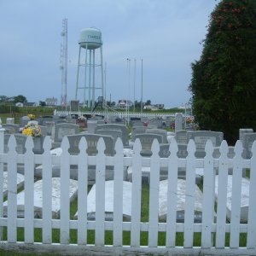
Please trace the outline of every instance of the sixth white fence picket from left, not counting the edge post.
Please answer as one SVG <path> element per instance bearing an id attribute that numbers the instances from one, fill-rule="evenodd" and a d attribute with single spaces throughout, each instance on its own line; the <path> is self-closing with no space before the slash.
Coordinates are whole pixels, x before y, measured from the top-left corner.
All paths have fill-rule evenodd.
<path id="1" fill-rule="evenodd" d="M 96 155 L 96 246 L 103 246 L 105 237 L 105 148 L 105 143 L 101 137 L 97 143 L 98 154 Z"/>

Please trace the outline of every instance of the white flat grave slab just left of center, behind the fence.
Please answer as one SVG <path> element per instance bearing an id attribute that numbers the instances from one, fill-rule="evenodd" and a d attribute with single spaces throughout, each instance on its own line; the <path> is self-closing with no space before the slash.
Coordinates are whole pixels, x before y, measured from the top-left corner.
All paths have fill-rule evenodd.
<path id="1" fill-rule="evenodd" d="M 123 182 L 123 218 L 125 221 L 131 220 L 131 189 L 132 184 Z M 96 212 L 96 185 L 94 184 L 87 195 L 87 218 L 88 220 L 95 220 Z M 76 212 L 75 218 L 78 218 Z M 113 180 L 105 182 L 105 220 L 113 221 Z"/>

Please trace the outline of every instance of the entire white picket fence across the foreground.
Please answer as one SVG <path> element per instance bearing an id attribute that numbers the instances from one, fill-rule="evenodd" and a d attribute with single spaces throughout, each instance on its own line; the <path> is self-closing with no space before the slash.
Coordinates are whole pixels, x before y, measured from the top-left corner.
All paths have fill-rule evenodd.
<path id="1" fill-rule="evenodd" d="M 177 158 L 177 143 L 170 144 L 171 155 L 161 159 L 158 155 L 159 144 L 154 141 L 153 155 L 143 158 L 139 153 L 141 144 L 136 141 L 132 157 L 123 156 L 123 145 L 118 140 L 115 145 L 116 154 L 104 154 L 102 139 L 97 144 L 98 154 L 86 154 L 87 143 L 83 137 L 79 143 L 79 155 L 68 154 L 68 140 L 64 137 L 62 154 L 50 154 L 50 139 L 44 140 L 44 154 L 32 153 L 32 138 L 26 141 L 26 154 L 16 154 L 15 137 L 9 139 L 9 152 L 3 154 L 3 131 L 0 131 L 0 248 L 19 248 L 23 250 L 38 249 L 38 252 L 58 251 L 65 253 L 98 253 L 109 255 L 177 253 L 177 254 L 256 254 L 256 143 L 253 144 L 253 157 L 250 160 L 241 158 L 241 142 L 236 143 L 234 159 L 227 158 L 228 145 L 221 144 L 219 159 L 212 158 L 213 147 L 210 141 L 206 145 L 206 157 L 195 159 L 195 143 L 189 141 L 186 159 Z M 3 218 L 3 164 L 8 166 L 8 218 Z M 25 217 L 17 218 L 17 164 L 25 166 Z M 34 218 L 33 183 L 34 167 L 43 165 L 43 218 Z M 61 217 L 51 218 L 51 166 L 61 166 Z M 78 219 L 70 219 L 70 204 L 67 198 L 69 187 L 69 166 L 78 165 Z M 96 220 L 88 221 L 87 216 L 87 174 L 88 166 L 96 166 Z M 113 187 L 113 221 L 105 221 L 105 166 L 114 166 Z M 132 166 L 132 203 L 131 222 L 123 222 L 123 166 Z M 150 166 L 149 212 L 148 222 L 141 221 L 142 166 Z M 159 183 L 160 167 L 168 167 L 168 194 L 166 222 L 159 222 Z M 184 223 L 176 222 L 177 204 L 177 169 L 186 167 L 186 193 Z M 195 168 L 204 168 L 203 179 L 203 211 L 202 222 L 194 223 L 195 205 Z M 219 189 L 217 220 L 214 221 L 214 169 L 218 168 Z M 228 169 L 233 168 L 233 196 L 230 223 L 226 222 L 226 184 Z M 250 169 L 250 195 L 247 224 L 240 223 L 241 177 L 242 169 Z M 121 172 L 120 172 L 121 171 Z M 3 227 L 7 228 L 7 239 L 3 241 Z M 24 228 L 24 241 L 17 241 L 17 228 Z M 34 241 L 34 229 L 42 229 L 42 241 Z M 60 243 L 52 241 L 52 229 L 60 230 Z M 70 243 L 70 230 L 77 230 L 77 243 Z M 87 244 L 86 230 L 95 230 L 95 244 Z M 105 245 L 105 230 L 113 231 L 113 245 Z M 123 231 L 131 232 L 131 244 L 123 245 Z M 141 246 L 141 232 L 148 232 L 148 246 Z M 166 245 L 159 246 L 159 232 L 166 233 Z M 183 246 L 176 246 L 177 232 L 183 233 Z M 201 233 L 201 247 L 193 246 L 195 233 Z M 225 234 L 230 233 L 229 247 L 225 247 Z M 240 247 L 240 233 L 246 233 L 247 245 Z M 213 236 L 215 234 L 215 236 Z M 125 254 L 125 255 L 126 255 Z"/>

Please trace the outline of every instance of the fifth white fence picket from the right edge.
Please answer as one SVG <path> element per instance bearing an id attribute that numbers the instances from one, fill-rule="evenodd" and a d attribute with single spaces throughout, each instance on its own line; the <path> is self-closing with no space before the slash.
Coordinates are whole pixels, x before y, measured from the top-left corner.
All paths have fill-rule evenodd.
<path id="1" fill-rule="evenodd" d="M 186 195 L 184 219 L 184 247 L 193 247 L 193 225 L 195 212 L 195 143 L 189 140 L 186 165 Z"/>

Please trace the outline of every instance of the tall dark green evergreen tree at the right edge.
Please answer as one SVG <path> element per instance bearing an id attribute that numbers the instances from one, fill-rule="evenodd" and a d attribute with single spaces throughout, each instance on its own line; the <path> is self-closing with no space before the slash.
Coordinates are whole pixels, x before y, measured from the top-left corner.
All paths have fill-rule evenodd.
<path id="1" fill-rule="evenodd" d="M 201 59 L 192 63 L 192 108 L 201 130 L 256 130 L 256 1 L 223 0 L 213 10 Z"/>

